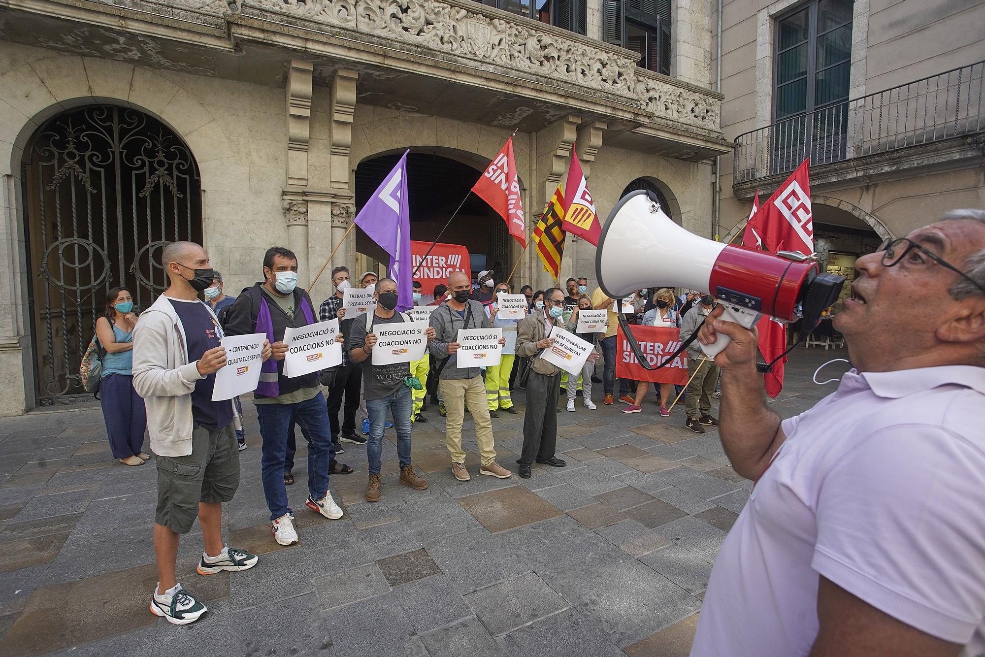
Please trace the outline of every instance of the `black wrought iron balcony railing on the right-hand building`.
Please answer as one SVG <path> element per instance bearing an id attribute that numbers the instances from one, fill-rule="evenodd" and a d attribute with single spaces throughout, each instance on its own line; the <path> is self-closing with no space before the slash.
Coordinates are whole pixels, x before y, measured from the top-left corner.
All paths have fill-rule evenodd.
<path id="1" fill-rule="evenodd" d="M 985 62 L 834 103 L 736 137 L 733 181 L 985 131 Z"/>

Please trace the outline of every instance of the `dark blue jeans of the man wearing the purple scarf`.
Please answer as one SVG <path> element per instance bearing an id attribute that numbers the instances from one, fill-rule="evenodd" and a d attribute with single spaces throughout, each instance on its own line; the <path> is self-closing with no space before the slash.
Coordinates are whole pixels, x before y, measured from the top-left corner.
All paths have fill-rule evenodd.
<path id="1" fill-rule="evenodd" d="M 332 446 L 328 407 L 319 392 L 297 404 L 257 404 L 256 414 L 263 436 L 263 494 L 267 498 L 270 519 L 275 520 L 291 512 L 284 487 L 284 462 L 292 421 L 301 427 L 301 433 L 308 441 L 308 494 L 312 499 L 321 499 L 328 491 L 328 461 Z"/>

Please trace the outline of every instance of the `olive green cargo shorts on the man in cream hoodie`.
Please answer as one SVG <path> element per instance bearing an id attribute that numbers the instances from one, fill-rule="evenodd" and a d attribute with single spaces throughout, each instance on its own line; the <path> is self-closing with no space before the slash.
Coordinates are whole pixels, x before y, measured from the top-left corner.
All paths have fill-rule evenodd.
<path id="1" fill-rule="evenodd" d="M 230 423 L 191 432 L 191 454 L 158 456 L 158 510 L 155 522 L 187 534 L 199 502 L 228 502 L 239 487 L 239 449 Z"/>

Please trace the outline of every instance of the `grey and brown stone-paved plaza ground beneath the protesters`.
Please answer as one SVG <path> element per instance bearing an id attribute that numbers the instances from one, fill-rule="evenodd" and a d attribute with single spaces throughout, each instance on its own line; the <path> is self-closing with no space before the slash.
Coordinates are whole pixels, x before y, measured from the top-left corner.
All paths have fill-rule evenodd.
<path id="1" fill-rule="evenodd" d="M 811 375 L 843 350 L 798 350 L 772 402 L 783 417 L 834 389 Z M 821 380 L 840 375 L 829 365 Z M 711 564 L 749 496 L 718 435 L 684 427 L 652 394 L 639 414 L 599 402 L 558 415 L 563 469 L 515 475 L 520 413 L 493 420 L 508 480 L 479 476 L 471 421 L 463 430 L 472 481 L 450 474 L 435 407 L 414 431 L 427 491 L 398 485 L 396 435 L 383 443 L 383 496 L 362 497 L 365 448 L 345 443 L 356 472 L 332 477 L 341 520 L 304 507 L 305 455 L 288 489 L 301 538 L 278 546 L 260 483 L 260 435 L 244 403 L 249 449 L 224 514 L 231 546 L 253 569 L 201 576 L 198 527 L 184 537 L 179 580 L 209 607 L 167 624 L 149 611 L 157 575 L 151 525 L 153 461 L 109 455 L 99 409 L 0 420 L 0 654 L 453 656 L 687 655 Z M 299 445 L 300 446 L 300 445 Z M 145 447 L 146 449 L 146 447 Z"/>

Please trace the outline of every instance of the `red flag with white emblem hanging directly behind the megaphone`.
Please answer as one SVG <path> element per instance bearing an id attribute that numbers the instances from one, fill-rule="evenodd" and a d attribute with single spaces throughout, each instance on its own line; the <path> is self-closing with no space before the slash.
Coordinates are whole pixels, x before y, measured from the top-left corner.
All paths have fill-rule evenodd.
<path id="1" fill-rule="evenodd" d="M 758 207 L 759 193 L 755 194 L 752 219 L 743 233 L 743 245 L 771 253 L 800 251 L 814 253 L 814 216 L 811 211 L 811 181 L 809 163 L 805 160 L 783 181 L 772 196 Z M 756 210 L 756 207 L 758 209 Z M 772 317 L 760 321 L 759 352 L 763 360 L 772 362 L 787 349 L 786 324 Z M 765 375 L 766 394 L 776 397 L 783 389 L 783 368 L 786 358 L 773 365 L 773 371 Z"/>

